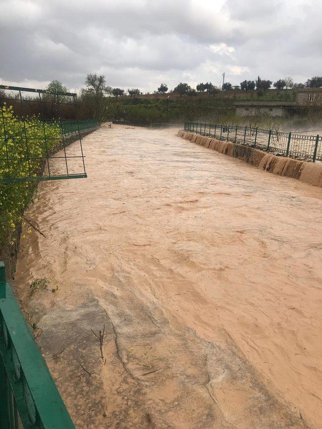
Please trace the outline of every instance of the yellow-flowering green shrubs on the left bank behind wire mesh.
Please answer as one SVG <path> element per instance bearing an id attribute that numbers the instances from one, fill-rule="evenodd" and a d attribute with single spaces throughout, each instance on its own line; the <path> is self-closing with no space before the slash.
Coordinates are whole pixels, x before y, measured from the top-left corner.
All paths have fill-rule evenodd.
<path id="1" fill-rule="evenodd" d="M 0 179 L 8 178 L 9 175 L 39 175 L 42 157 L 45 158 L 46 154 L 57 147 L 57 139 L 61 135 L 59 124 L 43 123 L 36 116 L 21 121 L 15 117 L 12 106 L 6 104 L 1 116 Z M 29 142 L 28 149 L 26 141 Z M 19 237 L 17 229 L 35 189 L 35 182 L 0 183 L 0 251 L 2 248 L 15 246 Z"/>

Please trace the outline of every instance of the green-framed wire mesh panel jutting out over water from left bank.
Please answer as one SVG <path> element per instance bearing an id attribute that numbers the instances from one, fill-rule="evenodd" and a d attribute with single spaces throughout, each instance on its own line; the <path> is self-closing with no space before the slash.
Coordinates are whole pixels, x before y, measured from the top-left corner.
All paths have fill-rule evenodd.
<path id="1" fill-rule="evenodd" d="M 0 183 L 87 177 L 75 97 L 0 85 Z"/>

